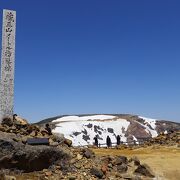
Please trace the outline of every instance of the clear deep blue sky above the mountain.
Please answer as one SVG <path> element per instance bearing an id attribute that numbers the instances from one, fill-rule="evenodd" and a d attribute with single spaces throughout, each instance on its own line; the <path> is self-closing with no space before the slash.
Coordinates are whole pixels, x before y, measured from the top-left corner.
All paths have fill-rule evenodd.
<path id="1" fill-rule="evenodd" d="M 180 1 L 0 0 L 0 24 L 3 9 L 17 11 L 15 113 L 180 121 Z"/>

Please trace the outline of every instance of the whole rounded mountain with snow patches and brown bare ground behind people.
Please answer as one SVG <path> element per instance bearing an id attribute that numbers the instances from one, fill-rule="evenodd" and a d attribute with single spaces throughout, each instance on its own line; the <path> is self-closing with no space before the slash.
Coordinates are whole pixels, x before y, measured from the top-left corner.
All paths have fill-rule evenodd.
<path id="1" fill-rule="evenodd" d="M 116 143 L 117 135 L 121 136 L 121 141 L 130 143 L 156 137 L 160 132 L 180 130 L 180 123 L 131 114 L 66 115 L 44 119 L 37 124 L 44 127 L 46 123 L 54 133 L 71 139 L 74 146 L 92 145 L 95 136 L 100 144 L 106 143 L 107 136 Z"/>

